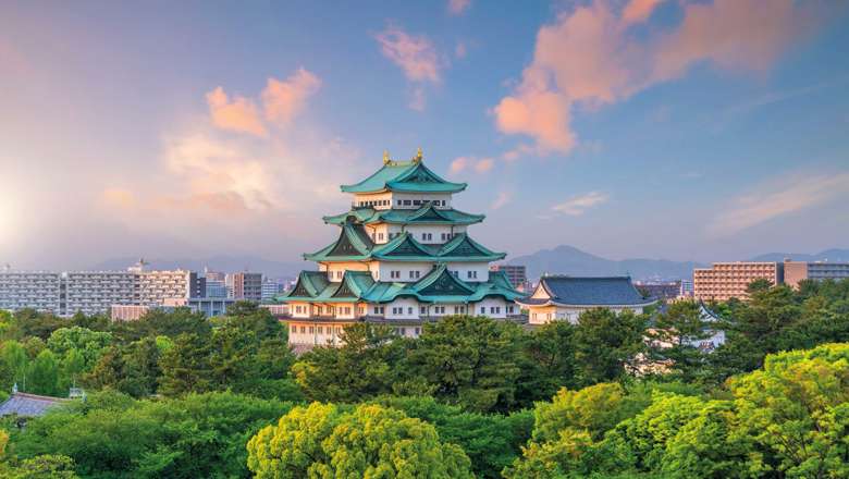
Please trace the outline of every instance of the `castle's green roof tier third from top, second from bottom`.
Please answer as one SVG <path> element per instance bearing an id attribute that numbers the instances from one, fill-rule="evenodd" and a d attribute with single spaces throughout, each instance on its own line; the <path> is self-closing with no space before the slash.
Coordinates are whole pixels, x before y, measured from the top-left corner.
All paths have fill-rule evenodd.
<path id="1" fill-rule="evenodd" d="M 504 253 L 495 253 L 472 240 L 466 233 L 457 233 L 445 244 L 426 245 L 404 232 L 384 244 L 374 244 L 361 224 L 347 222 L 342 225 L 339 238 L 312 254 L 304 255 L 310 261 L 428 261 L 477 262 L 504 259 Z"/>

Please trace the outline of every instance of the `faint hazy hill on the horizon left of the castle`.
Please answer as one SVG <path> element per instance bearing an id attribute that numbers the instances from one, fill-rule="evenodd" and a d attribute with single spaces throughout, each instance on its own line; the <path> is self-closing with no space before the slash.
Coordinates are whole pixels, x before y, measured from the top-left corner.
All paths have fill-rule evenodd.
<path id="1" fill-rule="evenodd" d="M 91 267 L 93 270 L 125 270 L 138 261 L 138 258 L 113 258 Z M 303 269 L 315 269 L 315 265 L 306 261 L 272 261 L 256 256 L 212 256 L 209 258 L 145 258 L 150 269 L 177 269 L 204 271 L 204 267 L 212 271 L 255 271 L 270 278 L 295 278 Z"/>

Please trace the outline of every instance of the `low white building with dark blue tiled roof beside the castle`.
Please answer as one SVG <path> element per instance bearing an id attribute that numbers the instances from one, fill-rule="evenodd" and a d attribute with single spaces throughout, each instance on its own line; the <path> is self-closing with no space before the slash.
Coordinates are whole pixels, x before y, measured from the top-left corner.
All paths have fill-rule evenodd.
<path id="1" fill-rule="evenodd" d="M 643 297 L 628 277 L 566 275 L 542 277 L 530 297 L 516 300 L 528 309 L 530 324 L 557 320 L 576 323 L 581 312 L 593 308 L 607 308 L 616 314 L 625 310 L 640 314 L 656 302 L 655 298 Z"/>

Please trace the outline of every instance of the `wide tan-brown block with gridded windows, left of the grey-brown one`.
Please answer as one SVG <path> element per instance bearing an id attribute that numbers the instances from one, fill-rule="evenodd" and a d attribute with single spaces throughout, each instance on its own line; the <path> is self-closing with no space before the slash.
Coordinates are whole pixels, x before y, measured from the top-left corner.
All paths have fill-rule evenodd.
<path id="1" fill-rule="evenodd" d="M 696 268 L 693 296 L 699 300 L 745 299 L 752 281 L 784 282 L 784 265 L 775 261 L 714 262 L 712 268 Z"/>

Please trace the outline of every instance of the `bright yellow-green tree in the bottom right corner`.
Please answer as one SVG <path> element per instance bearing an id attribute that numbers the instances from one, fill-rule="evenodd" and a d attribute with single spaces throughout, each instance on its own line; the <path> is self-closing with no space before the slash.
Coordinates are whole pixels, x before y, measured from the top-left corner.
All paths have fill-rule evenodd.
<path id="1" fill-rule="evenodd" d="M 760 470 L 849 476 L 849 344 L 767 356 L 731 392 L 742 431 L 766 450 Z"/>

